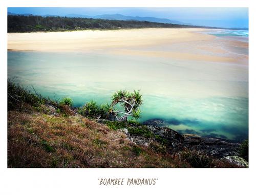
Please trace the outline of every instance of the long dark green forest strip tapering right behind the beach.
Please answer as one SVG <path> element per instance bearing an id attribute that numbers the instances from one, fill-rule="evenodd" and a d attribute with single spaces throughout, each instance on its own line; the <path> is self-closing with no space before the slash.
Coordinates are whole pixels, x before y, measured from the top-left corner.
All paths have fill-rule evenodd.
<path id="1" fill-rule="evenodd" d="M 8 32 L 69 31 L 127 28 L 202 28 L 137 20 L 8 15 Z M 205 28 L 205 27 L 204 27 Z"/>

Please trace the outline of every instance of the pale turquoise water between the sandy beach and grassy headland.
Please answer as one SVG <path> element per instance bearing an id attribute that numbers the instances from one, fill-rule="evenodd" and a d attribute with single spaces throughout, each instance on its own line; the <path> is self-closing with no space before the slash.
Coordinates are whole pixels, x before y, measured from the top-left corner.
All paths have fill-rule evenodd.
<path id="1" fill-rule="evenodd" d="M 185 134 L 248 138 L 248 67 L 92 52 L 8 52 L 8 78 L 75 106 L 141 90 L 141 122 L 161 119 Z"/>

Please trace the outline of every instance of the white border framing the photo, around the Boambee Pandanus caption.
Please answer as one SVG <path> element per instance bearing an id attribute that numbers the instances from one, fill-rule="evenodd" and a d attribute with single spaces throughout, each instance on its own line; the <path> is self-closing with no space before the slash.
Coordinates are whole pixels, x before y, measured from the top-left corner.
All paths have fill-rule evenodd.
<path id="1" fill-rule="evenodd" d="M 248 169 L 8 169 L 7 168 L 7 7 L 249 7 L 249 168 Z M 253 1 L 1 1 L 0 178 L 1 194 L 252 194 L 255 173 L 255 25 Z M 158 178 L 155 186 L 99 186 L 98 178 Z"/>

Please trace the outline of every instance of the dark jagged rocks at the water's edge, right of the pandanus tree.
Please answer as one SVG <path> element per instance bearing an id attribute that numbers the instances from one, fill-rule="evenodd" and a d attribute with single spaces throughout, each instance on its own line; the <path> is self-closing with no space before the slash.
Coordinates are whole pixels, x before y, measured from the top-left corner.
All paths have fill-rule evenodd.
<path id="1" fill-rule="evenodd" d="M 101 123 L 104 123 L 104 121 L 104 119 L 98 120 L 98 122 Z M 148 145 L 152 141 L 159 143 L 164 141 L 164 145 L 170 153 L 176 153 L 183 148 L 189 148 L 202 151 L 203 153 L 207 153 L 210 156 L 220 159 L 228 156 L 237 156 L 240 146 L 239 143 L 229 143 L 218 138 L 207 138 L 192 134 L 181 135 L 168 127 L 133 123 L 124 123 L 124 125 L 126 125 L 125 128 L 118 130 L 125 133 L 127 135 L 127 139 L 138 145 Z M 143 135 L 133 135 L 129 133 L 129 128 L 134 127 L 147 129 L 147 131 L 152 132 L 154 136 L 145 137 Z"/>

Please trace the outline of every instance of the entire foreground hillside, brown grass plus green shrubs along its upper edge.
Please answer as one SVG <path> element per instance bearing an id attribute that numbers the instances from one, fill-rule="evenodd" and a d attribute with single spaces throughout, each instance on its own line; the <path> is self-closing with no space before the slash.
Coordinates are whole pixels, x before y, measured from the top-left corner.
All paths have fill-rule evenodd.
<path id="1" fill-rule="evenodd" d="M 189 148 L 166 152 L 157 139 L 137 145 L 121 123 L 75 111 L 9 80 L 8 167 L 236 167 Z"/>

